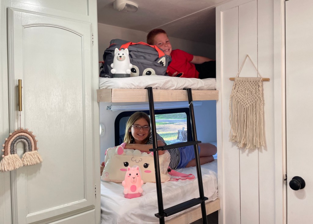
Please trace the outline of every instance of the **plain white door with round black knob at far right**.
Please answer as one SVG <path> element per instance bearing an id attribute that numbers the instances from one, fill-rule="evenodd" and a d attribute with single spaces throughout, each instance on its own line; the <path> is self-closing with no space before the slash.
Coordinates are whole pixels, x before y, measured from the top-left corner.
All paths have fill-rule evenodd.
<path id="1" fill-rule="evenodd" d="M 287 222 L 310 224 L 313 221 L 313 1 L 289 0 L 285 6 Z"/>

